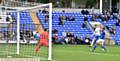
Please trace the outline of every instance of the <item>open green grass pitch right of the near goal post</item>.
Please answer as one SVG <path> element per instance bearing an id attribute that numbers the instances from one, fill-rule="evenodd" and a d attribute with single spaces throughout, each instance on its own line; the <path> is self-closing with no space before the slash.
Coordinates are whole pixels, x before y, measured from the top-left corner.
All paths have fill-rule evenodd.
<path id="1" fill-rule="evenodd" d="M 100 47 L 95 53 L 87 45 L 56 45 L 53 59 L 58 61 L 120 61 L 120 46 L 107 46 L 108 52 Z"/>

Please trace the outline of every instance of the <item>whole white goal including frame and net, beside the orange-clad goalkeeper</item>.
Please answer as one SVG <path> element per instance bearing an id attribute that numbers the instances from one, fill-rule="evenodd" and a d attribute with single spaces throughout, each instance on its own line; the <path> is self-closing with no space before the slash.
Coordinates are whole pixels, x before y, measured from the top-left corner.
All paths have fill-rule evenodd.
<path id="1" fill-rule="evenodd" d="M 1 10 L 0 58 L 52 59 L 51 3 L 31 7 L 1 6 Z M 39 45 L 40 40 L 35 35 L 36 33 L 41 34 L 44 29 L 47 29 L 49 33 L 49 46 L 40 48 L 36 53 L 36 46 Z"/>

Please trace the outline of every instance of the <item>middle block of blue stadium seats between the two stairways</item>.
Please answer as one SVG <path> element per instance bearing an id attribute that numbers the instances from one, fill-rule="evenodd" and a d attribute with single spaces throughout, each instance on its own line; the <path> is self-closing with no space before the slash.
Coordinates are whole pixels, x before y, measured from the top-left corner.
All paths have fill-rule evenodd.
<path id="1" fill-rule="evenodd" d="M 38 17 L 40 18 L 44 28 L 49 28 L 48 23 L 44 22 L 46 14 L 38 13 Z M 72 16 L 75 18 L 75 21 L 65 21 L 64 25 L 58 25 L 59 23 L 59 16 Z M 87 17 L 91 17 L 91 15 L 88 15 Z M 82 28 L 82 23 L 84 19 L 84 15 L 80 15 L 80 13 L 62 13 L 62 12 L 54 12 L 53 13 L 53 29 L 58 30 L 58 36 L 62 37 L 62 32 L 73 32 L 75 36 L 82 35 L 85 37 L 86 35 L 91 35 L 92 32 L 89 30 L 89 28 Z"/>

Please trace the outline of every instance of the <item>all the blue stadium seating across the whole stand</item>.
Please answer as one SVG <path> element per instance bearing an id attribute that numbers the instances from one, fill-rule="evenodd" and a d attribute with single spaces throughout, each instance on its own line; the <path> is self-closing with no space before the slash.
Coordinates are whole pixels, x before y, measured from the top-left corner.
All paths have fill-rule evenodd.
<path id="1" fill-rule="evenodd" d="M 10 13 L 14 18 L 17 19 L 17 13 L 16 12 L 12 12 Z M 45 15 L 47 14 L 43 14 L 43 13 L 37 13 L 38 18 L 40 19 L 42 25 L 44 28 L 49 28 L 49 23 L 45 23 Z M 75 21 L 65 21 L 63 26 L 58 25 L 59 23 L 59 16 L 72 16 L 75 18 Z M 52 27 L 53 29 L 57 29 L 58 30 L 58 36 L 62 37 L 62 32 L 67 31 L 67 32 L 73 32 L 75 36 L 82 36 L 85 37 L 86 35 L 91 35 L 92 31 L 86 27 L 86 28 L 82 28 L 82 23 L 84 22 L 83 19 L 84 17 L 88 17 L 88 20 L 90 21 L 92 15 L 81 15 L 80 13 L 62 13 L 62 12 L 53 12 L 53 23 L 52 23 Z M 97 19 L 97 21 L 103 23 L 104 25 L 108 26 L 108 27 L 112 27 L 112 25 L 115 25 L 116 20 L 112 19 L 112 15 L 111 18 L 108 22 L 102 22 L 101 19 Z M 23 11 L 20 13 L 20 23 L 21 24 L 33 24 L 32 19 L 29 15 L 29 13 L 27 11 Z M 23 28 L 22 26 L 20 27 L 21 29 Z M 24 26 L 24 29 L 29 29 L 29 30 L 34 30 L 35 26 Z M 120 27 L 116 26 L 116 34 L 112 35 L 113 39 L 116 41 L 116 44 L 120 45 Z"/>

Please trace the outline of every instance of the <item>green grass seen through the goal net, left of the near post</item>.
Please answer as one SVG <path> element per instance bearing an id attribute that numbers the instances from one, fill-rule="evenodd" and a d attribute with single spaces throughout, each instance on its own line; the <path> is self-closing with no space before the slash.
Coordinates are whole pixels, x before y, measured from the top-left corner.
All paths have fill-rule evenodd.
<path id="1" fill-rule="evenodd" d="M 47 48 L 42 47 L 38 54 L 35 53 L 35 46 L 32 44 L 20 44 L 20 54 L 17 55 L 17 45 L 0 44 L 0 58 L 44 58 L 47 59 Z"/>

